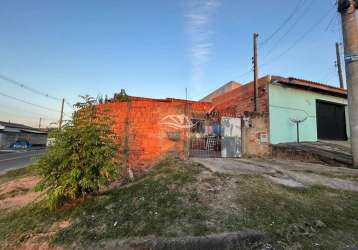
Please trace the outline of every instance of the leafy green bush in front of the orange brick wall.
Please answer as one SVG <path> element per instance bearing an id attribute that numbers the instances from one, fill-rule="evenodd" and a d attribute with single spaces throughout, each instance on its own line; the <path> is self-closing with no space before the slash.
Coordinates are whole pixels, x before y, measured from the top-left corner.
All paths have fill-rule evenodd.
<path id="1" fill-rule="evenodd" d="M 110 118 L 89 96 L 75 104 L 72 121 L 51 133 L 55 144 L 38 162 L 42 177 L 37 190 L 46 190 L 51 208 L 97 192 L 117 177 L 120 157 Z"/>

